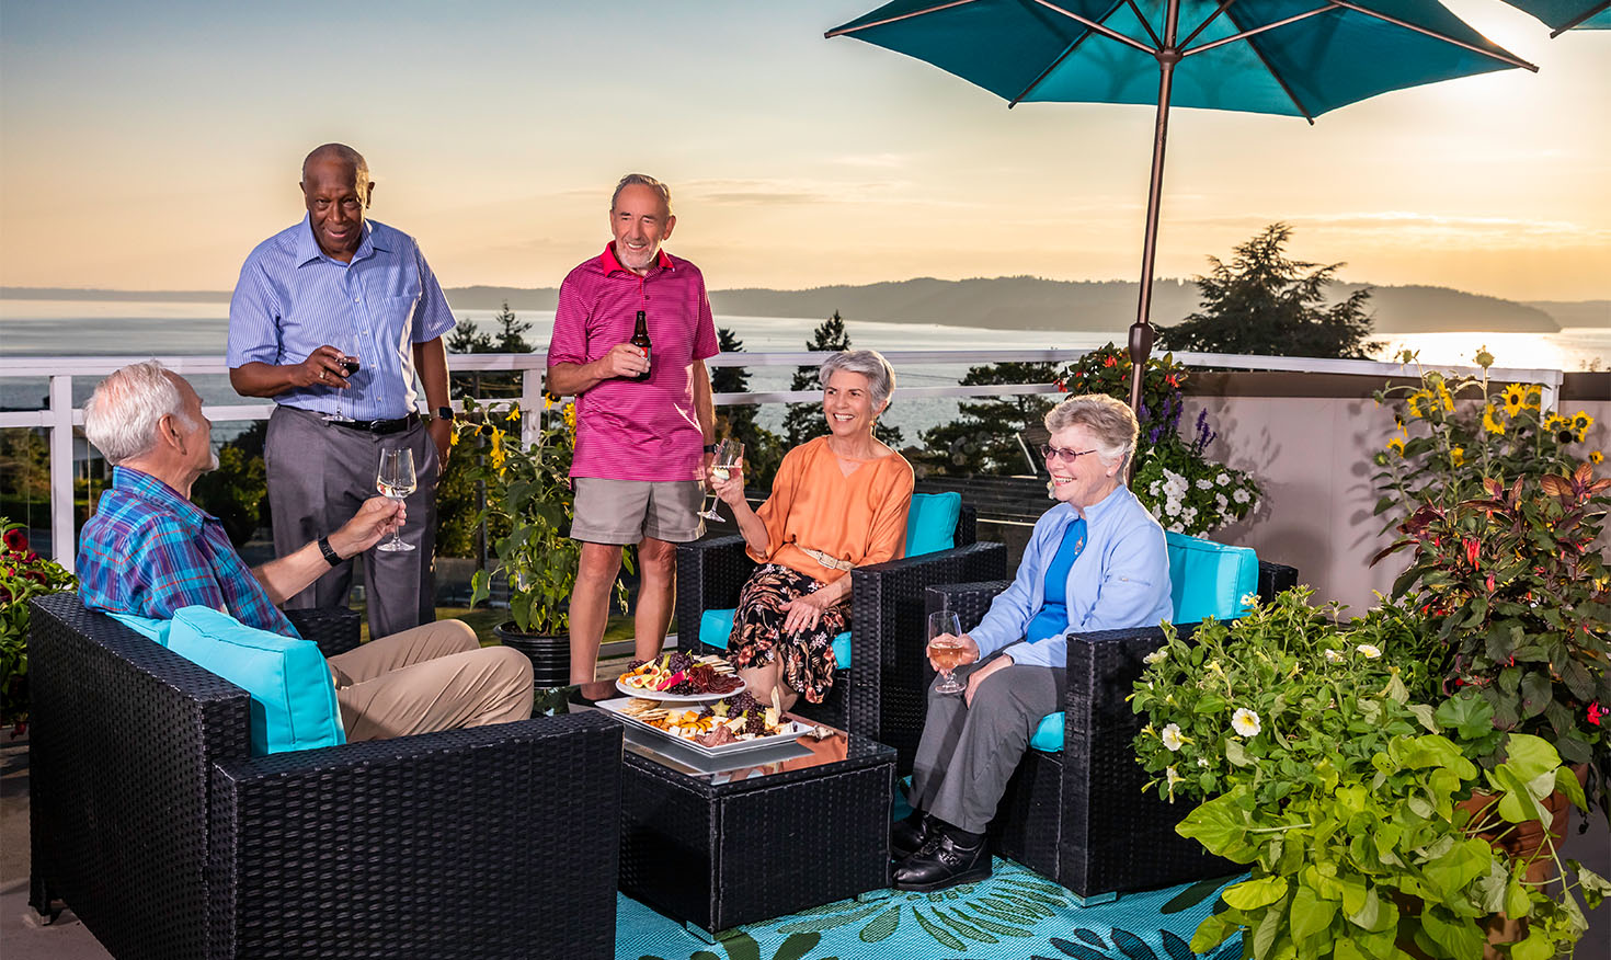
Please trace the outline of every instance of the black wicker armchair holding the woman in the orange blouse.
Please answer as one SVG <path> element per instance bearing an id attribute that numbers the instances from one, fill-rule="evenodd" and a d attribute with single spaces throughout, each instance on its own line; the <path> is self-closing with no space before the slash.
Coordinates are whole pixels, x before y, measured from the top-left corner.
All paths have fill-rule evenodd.
<path id="1" fill-rule="evenodd" d="M 894 747 L 909 773 L 926 710 L 923 590 L 1007 575 L 1007 546 L 976 538 L 976 512 L 963 504 L 952 549 L 851 570 L 851 667 L 834 675 L 820 706 L 801 701 L 796 710 Z M 699 615 L 736 607 L 754 569 L 743 536 L 678 544 L 677 638 L 685 649 L 710 652 L 699 643 Z"/>

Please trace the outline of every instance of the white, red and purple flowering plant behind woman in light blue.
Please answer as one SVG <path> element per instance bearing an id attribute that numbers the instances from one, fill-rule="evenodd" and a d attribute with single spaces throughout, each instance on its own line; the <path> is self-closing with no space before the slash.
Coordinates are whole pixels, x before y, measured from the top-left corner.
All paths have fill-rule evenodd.
<path id="1" fill-rule="evenodd" d="M 1129 354 L 1108 343 L 1079 358 L 1057 383 L 1070 393 L 1107 393 L 1129 403 L 1131 367 Z M 1186 377 L 1173 354 L 1147 361 L 1129 488 L 1165 530 L 1200 536 L 1247 517 L 1260 491 L 1252 474 L 1208 459 L 1205 451 L 1216 433 L 1207 411 L 1197 416 L 1191 438 L 1181 437 Z"/>

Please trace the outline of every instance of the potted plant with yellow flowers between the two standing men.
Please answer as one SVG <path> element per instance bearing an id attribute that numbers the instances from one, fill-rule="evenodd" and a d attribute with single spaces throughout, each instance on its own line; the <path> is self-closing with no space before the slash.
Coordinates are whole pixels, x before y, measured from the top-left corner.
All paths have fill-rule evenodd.
<path id="1" fill-rule="evenodd" d="M 532 657 L 538 686 L 562 686 L 570 675 L 570 591 L 577 581 L 582 544 L 570 538 L 575 494 L 570 457 L 577 440 L 575 403 L 545 398 L 535 438 L 520 438 L 517 401 L 464 401 L 453 445 L 478 445 L 472 482 L 485 485 L 485 506 L 475 523 L 487 525 L 496 556 L 491 570 L 470 580 L 470 606 L 488 599 L 493 583 L 509 591 L 507 623 L 499 639 Z M 628 570 L 632 561 L 625 561 Z M 627 609 L 627 588 L 615 583 L 615 602 Z"/>

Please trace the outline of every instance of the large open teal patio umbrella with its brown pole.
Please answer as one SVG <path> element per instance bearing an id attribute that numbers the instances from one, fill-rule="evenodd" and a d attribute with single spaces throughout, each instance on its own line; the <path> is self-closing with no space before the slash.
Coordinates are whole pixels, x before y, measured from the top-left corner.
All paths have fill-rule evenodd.
<path id="1" fill-rule="evenodd" d="M 1437 0 L 894 0 L 828 31 L 1007 100 L 1157 105 L 1131 406 L 1152 351 L 1152 263 L 1171 106 L 1315 118 L 1387 90 L 1513 66 Z"/>

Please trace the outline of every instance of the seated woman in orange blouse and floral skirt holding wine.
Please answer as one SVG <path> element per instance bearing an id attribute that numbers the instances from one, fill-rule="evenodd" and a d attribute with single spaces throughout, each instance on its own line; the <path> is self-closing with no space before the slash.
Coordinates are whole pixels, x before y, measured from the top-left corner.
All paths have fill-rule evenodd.
<path id="1" fill-rule="evenodd" d="M 849 630 L 852 567 L 905 549 L 912 464 L 873 438 L 896 372 L 878 351 L 847 350 L 822 364 L 828 435 L 783 456 L 759 511 L 744 499 L 741 470 L 714 490 L 731 509 L 749 556 L 727 652 L 762 704 L 788 710 L 801 694 L 820 704 L 838 667 L 831 641 Z"/>

